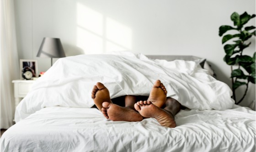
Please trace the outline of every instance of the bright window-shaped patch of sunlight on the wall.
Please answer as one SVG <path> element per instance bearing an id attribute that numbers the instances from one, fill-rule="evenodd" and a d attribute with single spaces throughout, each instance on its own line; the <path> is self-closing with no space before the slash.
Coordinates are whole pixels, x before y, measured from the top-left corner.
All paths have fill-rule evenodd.
<path id="1" fill-rule="evenodd" d="M 77 3 L 76 44 L 85 54 L 132 49 L 132 30 L 122 23 Z"/>

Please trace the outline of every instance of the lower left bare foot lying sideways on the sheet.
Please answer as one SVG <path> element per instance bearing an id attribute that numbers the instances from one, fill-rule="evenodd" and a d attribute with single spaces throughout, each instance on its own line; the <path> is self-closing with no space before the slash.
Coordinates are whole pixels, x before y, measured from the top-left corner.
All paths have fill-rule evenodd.
<path id="1" fill-rule="evenodd" d="M 121 107 L 110 102 L 102 103 L 102 114 L 112 121 L 142 121 L 143 117 L 129 107 Z"/>

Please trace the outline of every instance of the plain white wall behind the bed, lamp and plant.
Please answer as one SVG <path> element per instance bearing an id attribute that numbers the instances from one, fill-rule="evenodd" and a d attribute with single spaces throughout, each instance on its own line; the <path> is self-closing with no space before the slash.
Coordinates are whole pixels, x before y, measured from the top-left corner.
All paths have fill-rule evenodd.
<path id="1" fill-rule="evenodd" d="M 43 37 L 59 37 L 67 56 L 131 50 L 143 54 L 194 55 L 207 58 L 218 79 L 231 85 L 230 67 L 219 26 L 230 15 L 255 14 L 255 0 L 15 0 L 20 59 L 37 59 Z M 255 18 L 248 25 L 255 26 Z M 255 37 L 245 51 L 255 52 Z M 56 59 L 53 59 L 56 61 Z M 242 105 L 255 100 L 250 84 Z"/>

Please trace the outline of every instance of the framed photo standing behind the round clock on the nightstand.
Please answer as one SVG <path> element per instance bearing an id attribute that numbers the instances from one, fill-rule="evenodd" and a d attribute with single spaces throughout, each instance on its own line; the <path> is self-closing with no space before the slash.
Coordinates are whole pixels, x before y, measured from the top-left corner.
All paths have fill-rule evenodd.
<path id="1" fill-rule="evenodd" d="M 24 60 L 24 59 L 20 59 L 20 75 L 21 75 L 21 79 L 24 79 L 22 77 L 22 70 L 23 69 L 31 69 L 32 71 L 32 77 L 37 77 L 37 60 Z"/>

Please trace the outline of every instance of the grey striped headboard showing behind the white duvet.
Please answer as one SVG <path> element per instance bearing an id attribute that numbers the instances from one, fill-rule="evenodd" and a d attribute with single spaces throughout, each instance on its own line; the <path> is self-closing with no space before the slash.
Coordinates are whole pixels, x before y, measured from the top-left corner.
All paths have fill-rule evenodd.
<path id="1" fill-rule="evenodd" d="M 206 61 L 205 58 L 199 58 L 190 55 L 146 55 L 148 58 L 151 59 L 163 59 L 167 61 L 174 61 L 174 60 L 185 60 L 185 61 L 200 61 L 200 65 L 202 68 L 206 69 L 208 73 L 216 78 L 216 74 L 213 71 L 211 65 Z"/>

